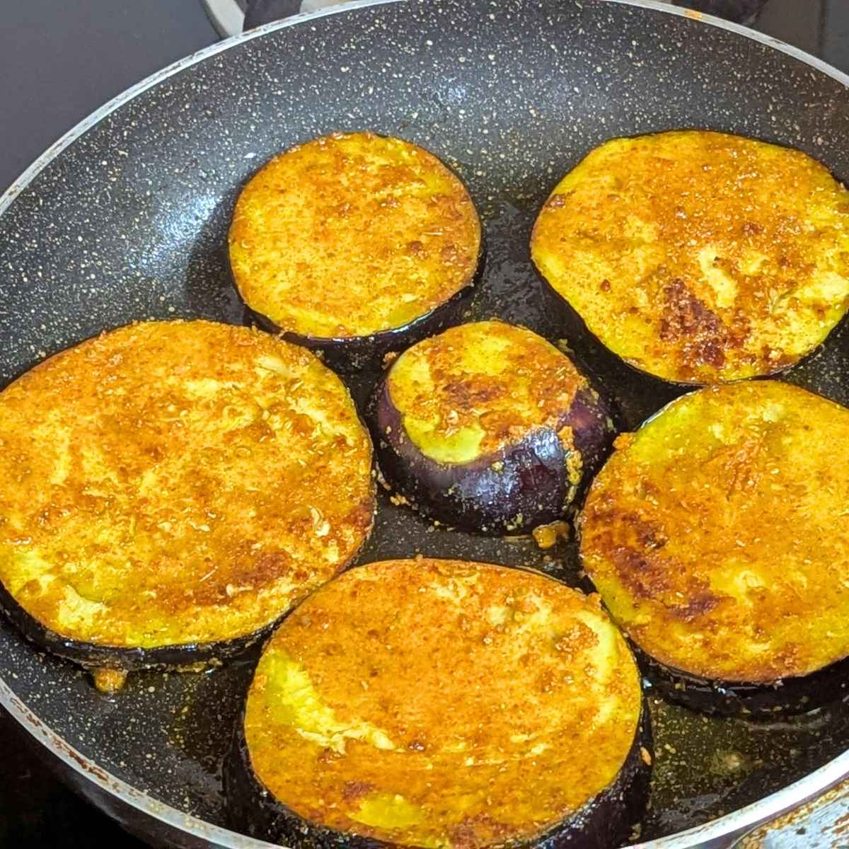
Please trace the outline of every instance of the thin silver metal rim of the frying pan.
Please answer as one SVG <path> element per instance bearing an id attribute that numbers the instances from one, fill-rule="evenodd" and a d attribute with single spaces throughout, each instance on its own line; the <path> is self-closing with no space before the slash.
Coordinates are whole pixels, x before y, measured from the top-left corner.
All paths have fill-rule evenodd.
<path id="1" fill-rule="evenodd" d="M 149 88 L 159 85 L 180 71 L 197 65 L 215 56 L 217 53 L 223 53 L 240 44 L 250 42 L 257 37 L 265 36 L 270 32 L 301 25 L 333 14 L 346 14 L 357 8 L 368 8 L 402 2 L 408 2 L 408 0 L 350 0 L 350 2 L 344 3 L 341 6 L 321 8 L 314 12 L 297 14 L 285 20 L 274 21 L 256 29 L 229 37 L 221 42 L 211 44 L 183 59 L 178 59 L 161 70 L 155 71 L 155 73 L 127 88 L 124 92 L 116 95 L 115 98 L 110 99 L 97 110 L 94 110 L 90 115 L 87 115 L 82 121 L 79 121 L 74 127 L 71 127 L 70 130 L 65 132 L 42 155 L 39 155 L 0 195 L 0 216 L 14 202 L 21 191 L 66 148 L 70 147 L 77 138 L 80 138 L 85 132 L 97 125 L 112 112 L 118 110 L 123 104 L 137 98 L 138 95 L 147 91 Z M 647 8 L 661 14 L 676 15 L 694 20 L 698 24 L 714 26 L 733 32 L 738 36 L 758 42 L 767 48 L 778 50 L 780 53 L 786 53 L 793 59 L 801 61 L 814 70 L 818 70 L 820 73 L 831 77 L 849 89 L 849 74 L 843 73 L 841 70 L 836 69 L 834 66 L 829 65 L 822 59 L 818 59 L 816 56 L 812 56 L 812 54 L 804 50 L 782 42 L 777 38 L 767 36 L 762 32 L 748 29 L 743 25 L 734 24 L 709 14 L 694 13 L 689 9 L 670 6 L 667 3 L 662 3 L 661 0 L 591 0 L 591 2 L 618 3 L 623 6 Z M 182 812 L 175 807 L 167 805 L 165 802 L 157 801 L 153 796 L 149 796 L 148 793 L 138 790 L 132 784 L 119 779 L 103 767 L 99 767 L 96 763 L 91 762 L 87 756 L 69 745 L 60 734 L 53 731 L 53 728 L 42 722 L 37 717 L 35 711 L 31 711 L 14 694 L 14 691 L 2 677 L 0 677 L 0 706 L 3 706 L 8 711 L 8 714 L 14 717 L 34 739 L 44 745 L 53 756 L 64 762 L 66 767 L 69 767 L 73 773 L 77 773 L 86 783 L 96 785 L 98 790 L 108 796 L 114 796 L 145 816 L 158 820 L 171 829 L 176 829 L 177 831 L 193 835 L 205 841 L 214 841 L 215 845 L 222 846 L 223 849 L 273 849 L 273 844 L 271 843 L 259 841 L 246 835 L 240 835 L 238 832 L 211 824 L 192 814 Z M 739 808 L 737 811 L 713 819 L 705 824 L 695 826 L 694 828 L 668 835 L 655 841 L 639 843 L 633 846 L 633 849 L 649 849 L 649 847 L 650 849 L 686 849 L 686 847 L 699 846 L 704 841 L 739 837 L 747 831 L 756 828 L 757 825 L 819 796 L 841 781 L 841 779 L 844 779 L 846 774 L 849 774 L 849 750 L 842 752 L 824 764 L 824 766 L 819 767 L 812 773 L 808 773 L 782 790 L 777 790 L 770 796 L 766 796 L 759 801 Z"/>

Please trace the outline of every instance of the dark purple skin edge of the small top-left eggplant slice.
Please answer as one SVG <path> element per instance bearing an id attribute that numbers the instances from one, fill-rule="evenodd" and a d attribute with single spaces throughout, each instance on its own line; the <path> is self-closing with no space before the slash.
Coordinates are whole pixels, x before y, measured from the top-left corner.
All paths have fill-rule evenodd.
<path id="1" fill-rule="evenodd" d="M 469 308 L 475 287 L 481 282 L 486 265 L 485 260 L 486 249 L 481 236 L 481 250 L 478 253 L 475 273 L 463 289 L 403 327 L 381 330 L 380 333 L 369 336 L 345 336 L 331 339 L 304 336 L 279 328 L 270 318 L 252 310 L 247 304 L 245 304 L 245 323 L 254 324 L 267 333 L 282 336 L 287 342 L 293 342 L 295 345 L 314 351 L 335 372 L 356 374 L 366 368 L 379 367 L 388 353 L 403 351 L 416 342 L 435 335 L 452 324 L 459 323 L 464 311 Z M 232 268 L 230 268 L 230 281 L 237 295 L 241 297 Z"/>

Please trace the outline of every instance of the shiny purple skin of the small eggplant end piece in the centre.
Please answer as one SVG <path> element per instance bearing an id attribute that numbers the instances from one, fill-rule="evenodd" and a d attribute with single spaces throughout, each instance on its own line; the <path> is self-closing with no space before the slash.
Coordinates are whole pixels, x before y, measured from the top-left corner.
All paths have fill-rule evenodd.
<path id="1" fill-rule="evenodd" d="M 571 427 L 581 453 L 582 481 L 576 487 L 569 481 L 566 449 L 553 427 L 531 430 L 520 441 L 470 463 L 449 465 L 425 456 L 410 440 L 387 378 L 366 418 L 381 474 L 393 490 L 430 519 L 493 535 L 523 533 L 565 518 L 601 468 L 614 437 L 607 404 L 589 387 L 579 390 L 558 424 L 558 430 Z"/>

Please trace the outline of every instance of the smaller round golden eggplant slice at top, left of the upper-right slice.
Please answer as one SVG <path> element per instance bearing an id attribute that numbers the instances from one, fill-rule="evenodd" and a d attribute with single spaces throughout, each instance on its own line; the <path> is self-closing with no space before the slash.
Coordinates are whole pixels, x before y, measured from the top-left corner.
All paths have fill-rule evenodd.
<path id="1" fill-rule="evenodd" d="M 239 195 L 229 254 L 267 329 L 360 365 L 457 317 L 481 222 L 463 183 L 428 151 L 335 134 L 256 173 Z"/>

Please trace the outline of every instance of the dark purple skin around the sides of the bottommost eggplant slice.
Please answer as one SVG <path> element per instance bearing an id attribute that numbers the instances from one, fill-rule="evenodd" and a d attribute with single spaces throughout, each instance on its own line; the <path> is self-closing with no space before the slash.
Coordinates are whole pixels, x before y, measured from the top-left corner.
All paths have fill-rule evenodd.
<path id="1" fill-rule="evenodd" d="M 628 752 L 616 779 L 580 807 L 532 841 L 513 841 L 504 849 L 615 849 L 624 846 L 644 817 L 654 760 L 649 710 L 645 700 Z M 394 844 L 355 835 L 301 818 L 278 801 L 261 783 L 250 762 L 245 740 L 245 710 L 233 730 L 224 761 L 224 796 L 233 829 L 258 840 L 298 849 L 395 849 Z"/>

